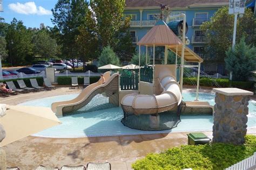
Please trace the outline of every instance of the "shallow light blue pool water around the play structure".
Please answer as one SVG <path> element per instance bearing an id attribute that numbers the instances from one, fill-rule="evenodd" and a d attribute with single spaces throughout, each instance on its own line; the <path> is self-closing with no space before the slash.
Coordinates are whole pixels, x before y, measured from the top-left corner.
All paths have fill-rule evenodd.
<path id="1" fill-rule="evenodd" d="M 70 100 L 77 97 L 77 95 L 78 94 L 69 94 L 65 96 L 42 98 L 28 101 L 21 105 L 51 107 L 53 102 Z M 184 92 L 183 97 L 184 101 L 193 101 L 196 98 L 196 93 Z M 199 93 L 199 100 L 208 101 L 211 105 L 214 105 L 214 97 L 214 93 Z M 101 98 L 102 96 L 97 96 L 93 100 Z M 256 126 L 256 101 L 250 100 L 248 107 L 249 114 L 247 126 L 254 127 Z M 140 131 L 124 126 L 121 123 L 122 118 L 123 110 L 120 107 L 107 108 L 105 110 L 92 112 L 80 112 L 79 114 L 61 117 L 59 120 L 62 121 L 62 124 L 34 135 L 52 138 L 99 137 L 110 135 L 211 131 L 213 126 L 213 117 L 211 115 L 181 115 L 181 122 L 172 130 Z"/>

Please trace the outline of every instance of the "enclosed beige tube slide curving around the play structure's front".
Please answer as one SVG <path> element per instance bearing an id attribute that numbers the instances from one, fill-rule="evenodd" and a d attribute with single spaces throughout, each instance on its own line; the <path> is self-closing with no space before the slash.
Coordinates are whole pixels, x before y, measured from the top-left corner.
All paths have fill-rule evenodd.
<path id="1" fill-rule="evenodd" d="M 179 84 L 169 69 L 163 68 L 157 77 L 162 91 L 159 95 L 127 94 L 121 101 L 125 112 L 156 114 L 171 110 L 181 103 Z"/>

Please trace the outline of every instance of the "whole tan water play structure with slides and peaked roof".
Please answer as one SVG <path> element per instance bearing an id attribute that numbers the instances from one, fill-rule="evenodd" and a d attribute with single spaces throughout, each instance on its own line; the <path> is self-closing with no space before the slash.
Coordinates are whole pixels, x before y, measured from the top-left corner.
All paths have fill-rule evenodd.
<path id="1" fill-rule="evenodd" d="M 179 25 L 181 24 L 178 22 Z M 172 25 L 172 24 L 168 24 Z M 72 114 L 86 106 L 97 94 L 108 98 L 108 104 L 113 107 L 122 106 L 125 126 L 139 130 L 167 130 L 176 127 L 179 123 L 181 110 L 186 110 L 186 103 L 182 103 L 182 84 L 184 60 L 186 62 L 198 63 L 198 81 L 200 63 L 203 62 L 196 53 L 185 46 L 185 28 L 179 26 L 177 33 L 182 33 L 182 41 L 175 35 L 164 21 L 159 21 L 147 34 L 137 43 L 146 46 L 146 65 L 138 66 L 131 71 L 129 69 L 114 73 L 104 73 L 105 83 L 99 80 L 87 86 L 75 99 L 52 103 L 52 111 L 57 116 Z M 147 65 L 147 49 L 153 47 L 153 64 Z M 165 47 L 165 58 L 163 64 L 155 64 L 155 47 Z M 176 64 L 167 64 L 168 50 L 176 53 Z M 181 57 L 181 65 L 177 64 L 177 57 Z M 140 59 L 139 59 L 140 65 Z M 209 109 L 212 107 L 207 102 L 190 101 L 189 111 L 198 108 Z M 187 107 L 187 108 L 188 108 Z M 97 110 L 105 109 L 104 106 L 96 106 Z"/>

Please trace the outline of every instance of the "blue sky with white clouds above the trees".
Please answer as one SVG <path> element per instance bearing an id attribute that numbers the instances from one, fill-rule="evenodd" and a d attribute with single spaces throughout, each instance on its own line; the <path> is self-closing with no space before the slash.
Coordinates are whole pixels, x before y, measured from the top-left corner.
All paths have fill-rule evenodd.
<path id="1" fill-rule="evenodd" d="M 45 26 L 53 26 L 51 22 L 52 12 L 57 0 L 3 0 L 3 10 L 0 17 L 10 23 L 13 18 L 23 21 L 29 28 L 39 28 L 41 23 Z"/>

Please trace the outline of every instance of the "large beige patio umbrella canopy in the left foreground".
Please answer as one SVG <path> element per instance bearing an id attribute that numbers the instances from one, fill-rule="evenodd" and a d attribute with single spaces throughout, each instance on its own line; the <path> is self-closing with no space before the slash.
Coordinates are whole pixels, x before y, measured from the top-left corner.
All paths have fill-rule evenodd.
<path id="1" fill-rule="evenodd" d="M 8 105 L 7 108 L 6 115 L 0 117 L 6 132 L 0 147 L 61 123 L 48 107 Z"/>

